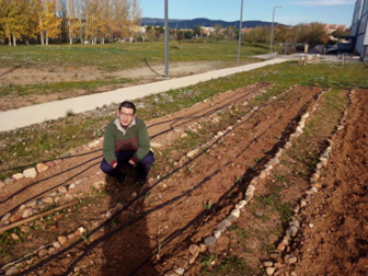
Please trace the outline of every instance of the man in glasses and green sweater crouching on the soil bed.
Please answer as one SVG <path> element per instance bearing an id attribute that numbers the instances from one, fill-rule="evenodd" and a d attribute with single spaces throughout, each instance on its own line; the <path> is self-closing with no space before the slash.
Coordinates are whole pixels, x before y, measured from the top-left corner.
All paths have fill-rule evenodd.
<path id="1" fill-rule="evenodd" d="M 136 106 L 129 101 L 119 105 L 117 118 L 105 130 L 101 170 L 116 177 L 117 184 L 126 181 L 126 173 L 135 168 L 137 181 L 143 184 L 154 162 L 145 123 L 136 116 Z"/>

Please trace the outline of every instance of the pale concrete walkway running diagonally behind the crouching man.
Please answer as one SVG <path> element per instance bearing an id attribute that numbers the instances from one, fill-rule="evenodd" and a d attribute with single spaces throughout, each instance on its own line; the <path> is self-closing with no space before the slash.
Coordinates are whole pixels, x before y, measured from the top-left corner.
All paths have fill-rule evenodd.
<path id="1" fill-rule="evenodd" d="M 119 103 L 124 100 L 136 100 L 149 94 L 161 93 L 173 89 L 184 88 L 199 82 L 208 81 L 229 74 L 250 71 L 268 65 L 284 62 L 288 59 L 275 58 L 256 64 L 244 65 L 233 68 L 220 69 L 182 78 L 162 80 L 159 82 L 117 89 L 99 94 L 78 96 L 56 102 L 32 105 L 19 110 L 0 113 L 0 131 L 12 130 L 20 127 L 39 124 L 45 120 L 65 117 L 68 112 L 74 114 L 92 111 L 103 105 Z"/>

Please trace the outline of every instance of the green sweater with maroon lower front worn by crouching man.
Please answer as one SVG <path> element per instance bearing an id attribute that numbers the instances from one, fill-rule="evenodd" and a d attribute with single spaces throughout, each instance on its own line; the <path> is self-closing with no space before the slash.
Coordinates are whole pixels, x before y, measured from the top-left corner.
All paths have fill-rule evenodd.
<path id="1" fill-rule="evenodd" d="M 138 163 L 150 150 L 150 141 L 145 123 L 136 117 L 130 126 L 123 127 L 118 118 L 112 120 L 105 130 L 103 157 L 114 166 L 115 152 L 136 151 L 131 160 Z"/>

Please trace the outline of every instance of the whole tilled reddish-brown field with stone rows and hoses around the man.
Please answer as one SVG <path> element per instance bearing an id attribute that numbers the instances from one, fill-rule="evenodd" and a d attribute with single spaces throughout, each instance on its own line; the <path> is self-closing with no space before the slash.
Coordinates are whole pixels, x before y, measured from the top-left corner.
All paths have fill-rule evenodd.
<path id="1" fill-rule="evenodd" d="M 1 223 L 31 222 L 7 232 L 2 269 L 365 275 L 367 93 L 350 94 L 344 127 L 336 131 L 343 113 L 326 108 L 329 90 L 292 87 L 266 96 L 272 85 L 229 91 L 146 122 L 157 161 L 145 186 L 134 175 L 124 186 L 105 177 L 100 141 L 48 163 L 53 166 L 32 181 L 5 185 Z M 347 91 L 340 96 L 347 99 Z M 313 133 L 315 120 L 322 123 Z M 306 124 L 310 129 L 303 131 Z M 318 168 L 327 141 L 329 161 Z M 315 170 L 321 173 L 311 183 Z M 290 221 L 298 221 L 291 234 Z M 288 242 L 280 249 L 285 234 Z"/>

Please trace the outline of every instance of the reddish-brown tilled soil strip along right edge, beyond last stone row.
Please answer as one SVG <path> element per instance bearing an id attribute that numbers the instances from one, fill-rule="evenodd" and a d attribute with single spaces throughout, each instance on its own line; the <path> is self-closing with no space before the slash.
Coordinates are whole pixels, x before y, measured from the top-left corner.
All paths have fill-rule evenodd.
<path id="1" fill-rule="evenodd" d="M 368 275 L 367 106 L 367 91 L 357 90 L 323 172 L 323 188 L 302 212 L 297 275 Z"/>

